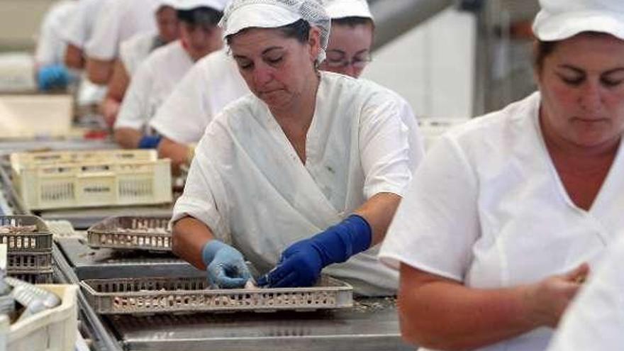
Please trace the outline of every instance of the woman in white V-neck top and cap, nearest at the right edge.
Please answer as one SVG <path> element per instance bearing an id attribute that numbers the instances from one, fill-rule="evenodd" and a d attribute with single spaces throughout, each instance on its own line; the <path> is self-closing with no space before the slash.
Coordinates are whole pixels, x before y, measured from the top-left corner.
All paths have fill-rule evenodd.
<path id="1" fill-rule="evenodd" d="M 539 91 L 442 136 L 381 247 L 420 350 L 545 350 L 623 233 L 624 2 L 540 4 Z"/>

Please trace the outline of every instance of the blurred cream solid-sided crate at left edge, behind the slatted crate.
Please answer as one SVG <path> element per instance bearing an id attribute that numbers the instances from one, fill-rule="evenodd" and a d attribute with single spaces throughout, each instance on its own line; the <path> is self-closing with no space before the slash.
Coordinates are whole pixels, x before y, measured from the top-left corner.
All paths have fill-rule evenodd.
<path id="1" fill-rule="evenodd" d="M 0 138 L 58 138 L 72 131 L 70 95 L 1 95 Z"/>

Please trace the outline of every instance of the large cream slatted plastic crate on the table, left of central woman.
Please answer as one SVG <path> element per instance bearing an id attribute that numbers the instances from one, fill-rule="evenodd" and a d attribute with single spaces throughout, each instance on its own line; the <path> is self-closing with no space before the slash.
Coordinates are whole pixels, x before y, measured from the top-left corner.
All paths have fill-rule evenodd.
<path id="1" fill-rule="evenodd" d="M 13 185 L 33 210 L 168 204 L 169 164 L 155 150 L 11 154 Z"/>

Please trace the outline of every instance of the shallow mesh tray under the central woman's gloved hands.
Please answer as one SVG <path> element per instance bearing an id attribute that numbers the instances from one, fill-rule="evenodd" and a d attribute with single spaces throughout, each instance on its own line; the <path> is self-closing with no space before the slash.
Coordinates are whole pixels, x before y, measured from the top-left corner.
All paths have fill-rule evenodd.
<path id="1" fill-rule="evenodd" d="M 102 314 L 310 311 L 353 306 L 353 288 L 323 277 L 309 288 L 209 289 L 203 277 L 92 279 L 80 282 Z"/>

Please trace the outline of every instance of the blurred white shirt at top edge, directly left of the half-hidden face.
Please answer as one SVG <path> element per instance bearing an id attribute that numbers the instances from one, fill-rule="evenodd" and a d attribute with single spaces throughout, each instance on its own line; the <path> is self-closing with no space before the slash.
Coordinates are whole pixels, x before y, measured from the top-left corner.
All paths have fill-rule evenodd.
<path id="1" fill-rule="evenodd" d="M 123 40 L 136 33 L 156 31 L 154 11 L 159 5 L 159 0 L 107 0 L 85 46 L 87 56 L 114 60 Z"/>

